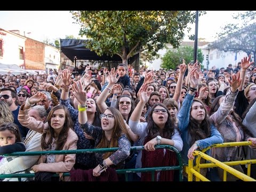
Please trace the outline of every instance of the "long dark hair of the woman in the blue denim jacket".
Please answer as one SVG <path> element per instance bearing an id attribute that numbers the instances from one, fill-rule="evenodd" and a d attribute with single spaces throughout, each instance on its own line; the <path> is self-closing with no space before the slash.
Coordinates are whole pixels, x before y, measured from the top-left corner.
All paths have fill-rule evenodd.
<path id="1" fill-rule="evenodd" d="M 204 103 L 199 99 L 194 99 L 193 103 L 194 102 L 199 102 L 203 105 L 203 108 L 204 108 L 204 111 L 205 111 L 205 118 L 201 122 L 201 124 L 199 124 L 198 121 L 196 121 L 196 119 L 194 119 L 191 116 L 192 107 L 190 108 L 188 133 L 191 136 L 191 141 L 190 141 L 191 146 L 193 145 L 193 143 L 195 143 L 195 141 L 200 140 L 200 139 L 208 138 L 211 135 L 211 127 L 210 127 L 211 122 L 210 122 L 210 118 L 208 116 L 207 110 L 204 106 Z"/>

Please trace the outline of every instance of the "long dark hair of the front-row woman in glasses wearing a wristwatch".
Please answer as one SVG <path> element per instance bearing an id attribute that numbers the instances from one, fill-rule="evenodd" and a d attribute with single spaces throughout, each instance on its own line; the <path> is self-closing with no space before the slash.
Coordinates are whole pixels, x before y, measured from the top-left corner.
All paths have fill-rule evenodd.
<path id="1" fill-rule="evenodd" d="M 147 133 L 148 133 L 148 136 L 149 139 L 153 139 L 155 138 L 157 135 L 159 135 L 159 130 L 158 130 L 158 126 L 156 125 L 156 123 L 153 121 L 153 110 L 157 107 L 157 106 L 160 106 L 160 107 L 163 107 L 167 110 L 167 121 L 165 123 L 165 126 L 164 126 L 164 129 L 163 129 L 163 135 L 162 137 L 163 138 L 171 138 L 172 135 L 174 134 L 174 123 L 172 120 L 171 120 L 171 115 L 169 113 L 169 110 L 167 109 L 167 107 L 165 107 L 165 105 L 163 105 L 163 103 L 155 103 L 155 105 L 153 105 L 153 107 L 151 108 L 151 110 L 149 111 L 149 114 L 148 114 L 148 119 L 147 119 L 147 122 L 148 122 L 148 125 L 147 125 Z M 178 127 L 177 127 L 178 129 Z"/>

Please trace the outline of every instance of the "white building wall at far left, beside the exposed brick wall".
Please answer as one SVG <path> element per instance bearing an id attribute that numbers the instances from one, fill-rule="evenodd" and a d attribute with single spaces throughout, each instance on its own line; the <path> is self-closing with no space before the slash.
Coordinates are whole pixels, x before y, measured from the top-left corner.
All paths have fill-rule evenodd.
<path id="1" fill-rule="evenodd" d="M 15 35 L 9 31 L 0 30 L 0 38 L 3 39 L 3 57 L 0 57 L 0 63 L 7 65 L 24 64 L 24 60 L 20 59 L 19 46 L 23 47 L 23 55 L 25 56 L 25 37 Z"/>

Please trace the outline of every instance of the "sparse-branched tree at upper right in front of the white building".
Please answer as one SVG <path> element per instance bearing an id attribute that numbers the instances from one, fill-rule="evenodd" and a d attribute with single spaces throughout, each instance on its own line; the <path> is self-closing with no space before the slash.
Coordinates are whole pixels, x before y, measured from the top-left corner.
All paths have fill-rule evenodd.
<path id="1" fill-rule="evenodd" d="M 246 11 L 233 15 L 235 23 L 229 23 L 222 27 L 218 34 L 218 41 L 213 42 L 209 47 L 220 51 L 244 51 L 249 56 L 253 54 L 255 61 L 256 52 L 256 11 Z"/>

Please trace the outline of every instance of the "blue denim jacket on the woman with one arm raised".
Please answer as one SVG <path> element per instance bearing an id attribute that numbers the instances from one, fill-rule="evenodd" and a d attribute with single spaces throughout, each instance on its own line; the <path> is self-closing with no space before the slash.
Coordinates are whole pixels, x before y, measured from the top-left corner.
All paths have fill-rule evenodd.
<path id="1" fill-rule="evenodd" d="M 189 114 L 190 114 L 190 108 L 193 103 L 195 95 L 191 95 L 189 93 L 186 94 L 183 102 L 182 107 L 178 114 L 178 121 L 179 121 L 179 130 L 181 132 L 181 138 L 183 140 L 183 149 L 181 151 L 182 161 L 183 163 L 188 163 L 188 150 L 191 147 L 190 141 L 191 136 L 188 133 L 188 124 L 189 124 Z M 211 124 L 211 137 L 198 140 L 198 147 L 200 149 L 204 149 L 206 147 L 209 147 L 211 145 L 214 145 L 215 143 L 222 143 L 223 138 L 220 134 L 220 132 L 217 130 L 214 124 Z M 211 150 L 207 150 L 206 154 L 210 155 Z"/>

